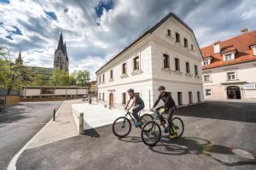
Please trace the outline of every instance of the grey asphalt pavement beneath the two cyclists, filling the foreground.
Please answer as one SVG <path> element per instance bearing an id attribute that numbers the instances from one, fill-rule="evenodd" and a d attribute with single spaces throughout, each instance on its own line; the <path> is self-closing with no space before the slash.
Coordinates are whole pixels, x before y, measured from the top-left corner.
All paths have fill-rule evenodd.
<path id="1" fill-rule="evenodd" d="M 180 109 L 183 138 L 163 136 L 153 148 L 138 128 L 118 139 L 111 126 L 98 127 L 25 150 L 17 169 L 256 169 L 255 159 L 241 151 L 256 154 L 255 111 L 256 104 L 224 102 Z"/>

